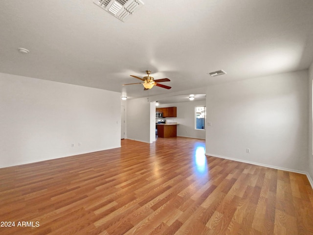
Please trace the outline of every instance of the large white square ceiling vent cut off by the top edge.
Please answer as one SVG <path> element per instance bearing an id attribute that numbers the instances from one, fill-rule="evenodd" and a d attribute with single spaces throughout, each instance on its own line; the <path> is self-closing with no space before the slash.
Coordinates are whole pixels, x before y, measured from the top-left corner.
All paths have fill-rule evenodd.
<path id="1" fill-rule="evenodd" d="M 125 22 L 129 15 L 143 5 L 140 0 L 93 0 L 93 3 Z"/>

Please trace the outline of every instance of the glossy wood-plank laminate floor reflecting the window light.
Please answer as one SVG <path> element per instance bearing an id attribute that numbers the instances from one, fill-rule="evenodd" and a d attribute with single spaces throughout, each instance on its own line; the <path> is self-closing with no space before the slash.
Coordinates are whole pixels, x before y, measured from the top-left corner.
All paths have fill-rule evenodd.
<path id="1" fill-rule="evenodd" d="M 313 235 L 305 175 L 206 157 L 204 148 L 180 137 L 122 140 L 121 148 L 2 168 L 1 225 L 15 227 L 0 234 Z"/>

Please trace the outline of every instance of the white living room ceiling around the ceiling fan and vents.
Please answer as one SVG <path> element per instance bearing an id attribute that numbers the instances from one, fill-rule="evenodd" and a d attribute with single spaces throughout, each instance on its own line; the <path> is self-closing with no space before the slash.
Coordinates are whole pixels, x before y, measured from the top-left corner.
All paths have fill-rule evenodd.
<path id="1" fill-rule="evenodd" d="M 146 70 L 172 87 L 149 95 L 168 96 L 313 61 L 313 0 L 142 1 L 123 23 L 92 0 L 1 0 L 0 72 L 136 98 L 143 86 L 122 84 Z"/>

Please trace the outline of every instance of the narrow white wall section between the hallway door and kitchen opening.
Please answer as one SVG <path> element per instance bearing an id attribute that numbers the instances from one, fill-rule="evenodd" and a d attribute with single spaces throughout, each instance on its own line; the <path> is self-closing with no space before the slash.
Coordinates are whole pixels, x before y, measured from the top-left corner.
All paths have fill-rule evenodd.
<path id="1" fill-rule="evenodd" d="M 127 100 L 127 139 L 151 143 L 151 118 L 151 105 L 147 98 Z"/>

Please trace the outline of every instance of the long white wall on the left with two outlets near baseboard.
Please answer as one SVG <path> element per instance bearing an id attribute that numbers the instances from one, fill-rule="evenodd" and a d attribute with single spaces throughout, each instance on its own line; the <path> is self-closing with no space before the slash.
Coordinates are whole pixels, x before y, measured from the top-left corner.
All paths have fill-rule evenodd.
<path id="1" fill-rule="evenodd" d="M 0 73 L 0 167 L 120 147 L 120 96 Z"/>

